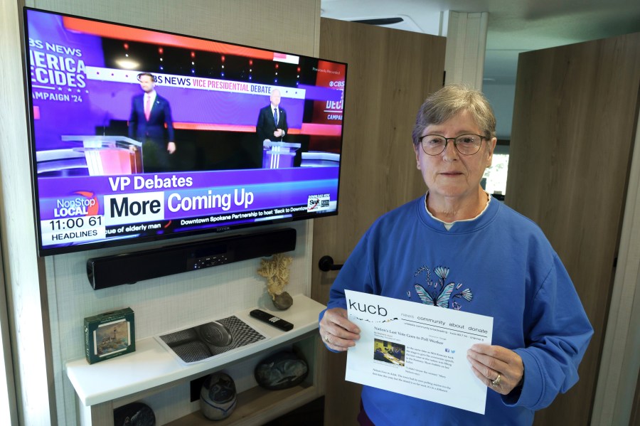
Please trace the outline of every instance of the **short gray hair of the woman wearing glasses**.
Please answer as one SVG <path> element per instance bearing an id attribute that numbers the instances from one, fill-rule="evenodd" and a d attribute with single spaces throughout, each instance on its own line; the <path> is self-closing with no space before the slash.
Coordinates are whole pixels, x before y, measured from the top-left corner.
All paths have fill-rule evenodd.
<path id="1" fill-rule="evenodd" d="M 459 114 L 469 112 L 487 139 L 496 137 L 496 116 L 489 101 L 479 90 L 462 84 L 442 87 L 432 93 L 420 107 L 413 127 L 413 144 L 420 144 L 422 132 L 432 124 L 442 124 Z"/>

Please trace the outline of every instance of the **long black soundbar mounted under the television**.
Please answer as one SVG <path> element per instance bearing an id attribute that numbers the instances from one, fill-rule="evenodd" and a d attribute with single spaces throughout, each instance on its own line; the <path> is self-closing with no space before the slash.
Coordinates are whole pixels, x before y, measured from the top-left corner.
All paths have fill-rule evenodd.
<path id="1" fill-rule="evenodd" d="M 296 230 L 284 228 L 213 240 L 159 247 L 87 260 L 87 277 L 95 290 L 134 284 L 166 275 L 270 256 L 296 248 Z"/>

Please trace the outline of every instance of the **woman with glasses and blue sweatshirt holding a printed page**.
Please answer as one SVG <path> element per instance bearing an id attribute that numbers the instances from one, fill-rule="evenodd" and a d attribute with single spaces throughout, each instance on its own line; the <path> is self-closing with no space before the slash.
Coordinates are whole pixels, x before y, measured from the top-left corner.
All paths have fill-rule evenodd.
<path id="1" fill-rule="evenodd" d="M 413 149 L 427 193 L 375 221 L 320 314 L 332 351 L 359 339 L 345 289 L 492 316 L 493 344 L 467 352 L 489 387 L 485 415 L 364 386 L 361 425 L 530 425 L 535 410 L 578 380 L 592 326 L 540 228 L 482 189 L 495 135 L 481 92 L 449 85 L 425 100 Z"/>

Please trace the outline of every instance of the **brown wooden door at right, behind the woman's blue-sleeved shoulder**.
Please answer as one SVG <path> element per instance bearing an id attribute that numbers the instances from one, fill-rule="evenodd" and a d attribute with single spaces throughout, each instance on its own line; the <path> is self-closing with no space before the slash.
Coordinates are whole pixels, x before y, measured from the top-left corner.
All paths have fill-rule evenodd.
<path id="1" fill-rule="evenodd" d="M 535 416 L 587 425 L 638 114 L 640 33 L 522 53 L 505 202 L 537 222 L 594 327 L 580 381 Z"/>

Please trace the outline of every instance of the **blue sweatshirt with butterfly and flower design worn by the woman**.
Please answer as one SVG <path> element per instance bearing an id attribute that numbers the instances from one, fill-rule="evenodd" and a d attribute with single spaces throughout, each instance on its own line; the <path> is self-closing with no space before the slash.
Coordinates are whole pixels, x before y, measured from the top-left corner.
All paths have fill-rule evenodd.
<path id="1" fill-rule="evenodd" d="M 328 308 L 346 309 L 344 289 L 493 316 L 492 344 L 524 363 L 522 388 L 506 396 L 488 389 L 485 415 L 364 386 L 376 425 L 531 425 L 535 410 L 577 382 L 593 334 L 542 230 L 495 199 L 449 230 L 427 213 L 425 196 L 386 213 L 348 257 Z"/>

